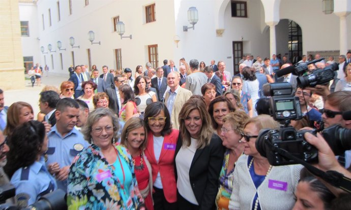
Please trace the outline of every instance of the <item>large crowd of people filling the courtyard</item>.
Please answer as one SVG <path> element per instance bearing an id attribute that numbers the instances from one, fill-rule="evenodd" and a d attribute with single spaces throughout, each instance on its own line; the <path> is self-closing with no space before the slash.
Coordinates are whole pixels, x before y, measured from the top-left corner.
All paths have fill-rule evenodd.
<path id="1" fill-rule="evenodd" d="M 276 55 L 244 56 L 233 76 L 223 61 L 184 58 L 178 68 L 137 65 L 134 76 L 71 66 L 60 89 L 40 93 L 37 120 L 27 102 L 4 106 L 0 89 L 0 173 L 21 206 L 61 189 L 69 209 L 349 209 L 345 191 L 303 165 L 274 166 L 256 148 L 260 130 L 280 129 L 268 83 L 287 82 L 298 97 L 304 117 L 294 128 L 351 129 L 342 118 L 351 110 L 351 52 L 339 58 L 330 84 L 306 88 L 295 75 L 277 77 L 292 63 Z M 335 157 L 321 134 L 304 137 L 318 149 L 316 167 L 351 178 L 351 152 Z"/>

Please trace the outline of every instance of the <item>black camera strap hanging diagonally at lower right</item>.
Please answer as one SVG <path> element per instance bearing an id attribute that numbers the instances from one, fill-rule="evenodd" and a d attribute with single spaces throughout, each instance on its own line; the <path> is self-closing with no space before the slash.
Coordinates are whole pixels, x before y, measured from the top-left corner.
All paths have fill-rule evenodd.
<path id="1" fill-rule="evenodd" d="M 291 155 L 286 150 L 275 147 L 270 141 L 266 141 L 266 144 L 271 146 L 272 151 L 277 152 L 279 155 L 287 159 L 294 160 L 295 162 L 305 166 L 312 174 L 314 174 L 317 177 L 320 177 L 321 179 L 333 185 L 334 187 L 340 188 L 348 193 L 351 193 L 351 179 L 345 177 L 342 173 L 339 173 L 335 170 L 328 170 L 324 172 L 323 170 L 320 170 L 312 166 L 311 164 L 295 157 L 294 155 Z"/>

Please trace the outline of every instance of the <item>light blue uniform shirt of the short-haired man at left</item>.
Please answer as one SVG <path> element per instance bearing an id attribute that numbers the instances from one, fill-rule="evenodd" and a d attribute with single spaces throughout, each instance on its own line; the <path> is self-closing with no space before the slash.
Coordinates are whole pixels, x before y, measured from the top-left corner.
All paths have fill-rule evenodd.
<path id="1" fill-rule="evenodd" d="M 54 162 L 57 162 L 60 168 L 71 165 L 74 157 L 89 146 L 89 143 L 84 140 L 83 135 L 75 128 L 65 136 L 62 136 L 57 131 L 56 125 L 54 125 L 47 134 L 47 137 L 49 138 L 49 145 L 46 152 L 48 155 L 46 166 Z M 57 186 L 66 192 L 67 180 L 57 181 Z"/>

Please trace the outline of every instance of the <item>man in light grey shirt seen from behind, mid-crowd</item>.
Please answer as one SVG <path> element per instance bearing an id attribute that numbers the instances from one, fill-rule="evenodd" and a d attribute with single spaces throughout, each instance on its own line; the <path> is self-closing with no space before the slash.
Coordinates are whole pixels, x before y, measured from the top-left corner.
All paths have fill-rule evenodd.
<path id="1" fill-rule="evenodd" d="M 192 59 L 189 62 L 191 75 L 189 75 L 185 82 L 185 89 L 190 90 L 193 95 L 202 95 L 201 87 L 207 83 L 207 76 L 198 70 L 199 61 Z"/>

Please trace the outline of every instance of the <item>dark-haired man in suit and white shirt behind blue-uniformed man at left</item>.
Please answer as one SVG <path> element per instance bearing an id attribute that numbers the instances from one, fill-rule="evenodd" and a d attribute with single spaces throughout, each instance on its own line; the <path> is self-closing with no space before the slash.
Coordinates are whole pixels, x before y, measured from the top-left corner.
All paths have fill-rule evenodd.
<path id="1" fill-rule="evenodd" d="M 44 121 L 52 126 L 56 124 L 55 111 L 56 103 L 60 100 L 60 95 L 55 91 L 48 90 L 40 93 L 39 108 L 45 114 Z"/>

